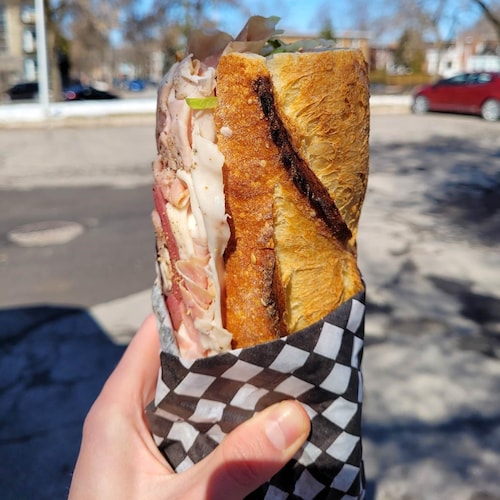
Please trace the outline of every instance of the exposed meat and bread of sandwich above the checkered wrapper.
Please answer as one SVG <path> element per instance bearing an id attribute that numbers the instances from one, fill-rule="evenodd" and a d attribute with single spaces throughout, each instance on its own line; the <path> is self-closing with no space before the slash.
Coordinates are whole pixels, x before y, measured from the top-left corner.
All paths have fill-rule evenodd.
<path id="1" fill-rule="evenodd" d="M 156 286 L 182 358 L 293 335 L 364 289 L 367 65 L 276 21 L 199 34 L 159 89 Z"/>

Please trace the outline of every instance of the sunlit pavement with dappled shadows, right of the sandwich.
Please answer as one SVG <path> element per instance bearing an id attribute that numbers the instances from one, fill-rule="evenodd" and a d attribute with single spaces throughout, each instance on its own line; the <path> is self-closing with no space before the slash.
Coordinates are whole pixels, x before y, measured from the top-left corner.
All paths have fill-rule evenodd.
<path id="1" fill-rule="evenodd" d="M 500 498 L 499 125 L 373 119 L 359 250 L 377 499 Z"/>

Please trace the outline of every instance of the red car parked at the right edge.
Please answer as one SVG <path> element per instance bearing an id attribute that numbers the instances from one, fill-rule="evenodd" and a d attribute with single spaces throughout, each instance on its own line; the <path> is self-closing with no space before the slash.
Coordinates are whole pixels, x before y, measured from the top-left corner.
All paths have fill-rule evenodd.
<path id="1" fill-rule="evenodd" d="M 413 94 L 414 113 L 449 111 L 500 119 L 500 73 L 462 73 L 419 87 Z"/>

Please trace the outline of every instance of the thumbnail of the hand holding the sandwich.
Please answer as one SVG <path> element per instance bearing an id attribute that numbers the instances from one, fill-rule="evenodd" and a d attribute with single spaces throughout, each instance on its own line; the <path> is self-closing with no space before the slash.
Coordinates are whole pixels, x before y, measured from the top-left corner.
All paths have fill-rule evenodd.
<path id="1" fill-rule="evenodd" d="M 265 432 L 277 450 L 285 451 L 299 439 L 304 440 L 309 421 L 295 404 L 284 401 L 273 408 L 266 419 Z"/>

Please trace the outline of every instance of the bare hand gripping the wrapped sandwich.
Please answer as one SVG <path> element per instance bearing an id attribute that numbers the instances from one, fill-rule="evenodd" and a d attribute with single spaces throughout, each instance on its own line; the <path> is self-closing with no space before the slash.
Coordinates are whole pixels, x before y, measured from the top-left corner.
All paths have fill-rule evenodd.
<path id="1" fill-rule="evenodd" d="M 176 474 L 156 447 L 144 413 L 154 398 L 159 349 L 150 316 L 85 419 L 70 500 L 243 498 L 306 440 L 306 412 L 298 402 L 284 401 L 241 424 L 209 456 Z"/>

